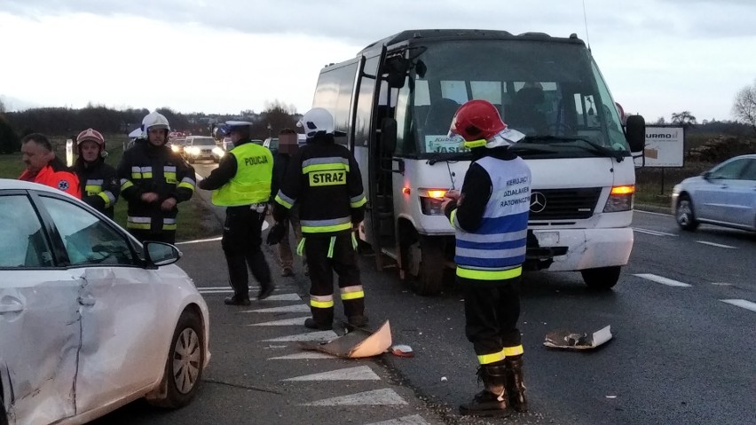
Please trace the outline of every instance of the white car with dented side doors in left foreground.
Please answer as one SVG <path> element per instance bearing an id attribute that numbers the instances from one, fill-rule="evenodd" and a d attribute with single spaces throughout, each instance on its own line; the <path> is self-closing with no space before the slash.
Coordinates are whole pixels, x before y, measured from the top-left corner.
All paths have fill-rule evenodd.
<path id="1" fill-rule="evenodd" d="M 0 179 L 0 425 L 189 403 L 209 315 L 180 256 L 66 193 Z"/>

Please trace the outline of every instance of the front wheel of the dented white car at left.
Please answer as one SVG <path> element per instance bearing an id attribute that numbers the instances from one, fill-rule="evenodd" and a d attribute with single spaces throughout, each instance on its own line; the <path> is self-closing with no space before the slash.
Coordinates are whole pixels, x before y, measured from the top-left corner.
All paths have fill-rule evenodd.
<path id="1" fill-rule="evenodd" d="M 170 342 L 161 388 L 162 397 L 148 399 L 151 405 L 176 409 L 188 405 L 197 392 L 205 364 L 204 333 L 197 313 L 184 311 Z"/>

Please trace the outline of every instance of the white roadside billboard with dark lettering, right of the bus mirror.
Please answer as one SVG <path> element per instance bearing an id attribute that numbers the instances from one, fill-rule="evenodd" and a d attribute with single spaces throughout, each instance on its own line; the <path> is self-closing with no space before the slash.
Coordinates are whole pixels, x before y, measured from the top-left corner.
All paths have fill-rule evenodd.
<path id="1" fill-rule="evenodd" d="M 635 167 L 682 167 L 685 156 L 685 131 L 682 127 L 646 126 L 643 158 L 635 158 Z"/>

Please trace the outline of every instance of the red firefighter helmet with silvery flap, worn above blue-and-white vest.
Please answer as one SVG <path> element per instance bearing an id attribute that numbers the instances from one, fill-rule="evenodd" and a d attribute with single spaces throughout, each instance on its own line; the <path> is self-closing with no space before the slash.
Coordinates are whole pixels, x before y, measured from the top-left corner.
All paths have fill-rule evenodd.
<path id="1" fill-rule="evenodd" d="M 459 136 L 466 147 L 509 146 L 524 138 L 524 134 L 510 130 L 501 120 L 496 106 L 482 99 L 466 102 L 457 109 L 449 128 L 449 137 Z"/>

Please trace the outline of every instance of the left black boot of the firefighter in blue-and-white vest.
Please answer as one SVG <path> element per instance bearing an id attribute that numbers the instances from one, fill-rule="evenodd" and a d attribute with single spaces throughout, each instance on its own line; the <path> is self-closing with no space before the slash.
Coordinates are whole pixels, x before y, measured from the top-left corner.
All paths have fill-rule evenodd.
<path id="1" fill-rule="evenodd" d="M 484 390 L 478 392 L 472 401 L 460 406 L 460 414 L 476 416 L 509 415 L 507 387 L 504 366 L 479 366 L 478 381 L 483 381 Z"/>

